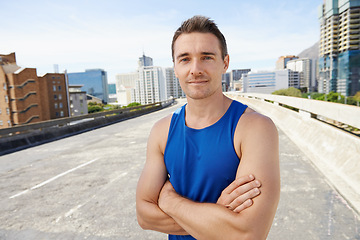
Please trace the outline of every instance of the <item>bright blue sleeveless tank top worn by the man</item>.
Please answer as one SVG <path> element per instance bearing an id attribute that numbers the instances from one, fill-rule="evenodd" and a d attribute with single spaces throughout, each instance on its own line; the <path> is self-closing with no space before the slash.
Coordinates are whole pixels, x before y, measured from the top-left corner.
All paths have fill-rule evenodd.
<path id="1" fill-rule="evenodd" d="M 196 202 L 216 203 L 221 192 L 235 180 L 240 162 L 234 149 L 237 123 L 247 108 L 232 101 L 213 125 L 193 129 L 185 125 L 185 106 L 171 118 L 164 162 L 176 192 Z M 169 235 L 169 239 L 194 239 Z"/>

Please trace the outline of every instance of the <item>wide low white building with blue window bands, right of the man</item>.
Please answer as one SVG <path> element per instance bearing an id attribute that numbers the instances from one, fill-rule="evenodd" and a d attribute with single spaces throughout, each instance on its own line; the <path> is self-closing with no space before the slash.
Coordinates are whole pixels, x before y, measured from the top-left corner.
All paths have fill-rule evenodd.
<path id="1" fill-rule="evenodd" d="M 299 88 L 299 74 L 289 69 L 243 74 L 243 92 L 271 94 L 276 90 Z"/>

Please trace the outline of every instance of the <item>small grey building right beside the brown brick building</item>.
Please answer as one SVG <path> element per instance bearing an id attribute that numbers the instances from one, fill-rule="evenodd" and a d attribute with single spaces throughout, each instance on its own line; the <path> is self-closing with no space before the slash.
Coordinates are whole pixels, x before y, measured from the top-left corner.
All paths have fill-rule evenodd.
<path id="1" fill-rule="evenodd" d="M 83 85 L 69 85 L 69 99 L 71 116 L 88 114 L 86 92 L 82 91 Z"/>

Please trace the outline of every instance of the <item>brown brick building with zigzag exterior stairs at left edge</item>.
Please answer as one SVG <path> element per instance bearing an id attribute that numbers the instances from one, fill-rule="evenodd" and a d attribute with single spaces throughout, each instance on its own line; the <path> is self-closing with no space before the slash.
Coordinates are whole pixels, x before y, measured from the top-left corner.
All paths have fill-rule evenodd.
<path id="1" fill-rule="evenodd" d="M 15 53 L 0 55 L 0 128 L 69 116 L 65 74 L 37 76 Z"/>

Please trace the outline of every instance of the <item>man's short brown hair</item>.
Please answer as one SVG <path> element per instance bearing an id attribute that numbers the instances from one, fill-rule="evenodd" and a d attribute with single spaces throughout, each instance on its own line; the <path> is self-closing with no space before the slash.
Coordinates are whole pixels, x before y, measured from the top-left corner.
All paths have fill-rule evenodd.
<path id="1" fill-rule="evenodd" d="M 220 32 L 217 25 L 208 17 L 196 15 L 188 20 L 184 21 L 181 26 L 174 33 L 174 37 L 171 43 L 171 53 L 172 59 L 174 61 L 174 45 L 176 39 L 183 33 L 212 33 L 214 34 L 220 42 L 221 56 L 225 59 L 225 56 L 228 54 L 226 40 L 224 35 Z"/>

